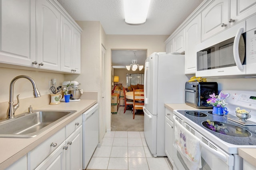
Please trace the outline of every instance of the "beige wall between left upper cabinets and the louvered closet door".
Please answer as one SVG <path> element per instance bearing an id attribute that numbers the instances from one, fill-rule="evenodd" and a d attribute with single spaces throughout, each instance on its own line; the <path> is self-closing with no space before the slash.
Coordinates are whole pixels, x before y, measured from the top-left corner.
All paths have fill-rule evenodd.
<path id="1" fill-rule="evenodd" d="M 66 75 L 65 78 L 74 78 L 81 83 L 80 88 L 86 91 L 98 92 L 98 103 L 100 103 L 102 95 L 100 86 L 101 45 L 105 44 L 106 34 L 99 21 L 76 22 L 83 29 L 81 33 L 81 74 L 75 77 Z M 99 139 L 102 140 L 106 132 L 106 113 L 100 113 L 99 126 Z"/>

